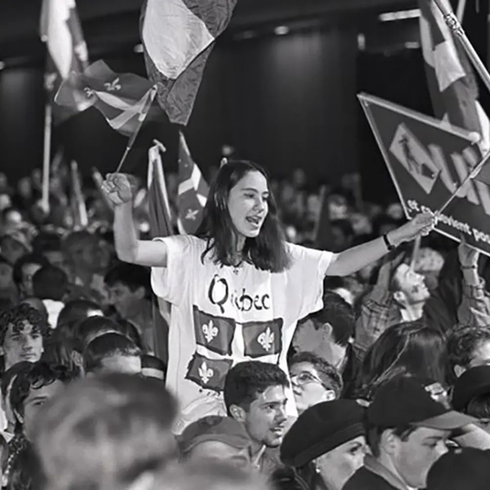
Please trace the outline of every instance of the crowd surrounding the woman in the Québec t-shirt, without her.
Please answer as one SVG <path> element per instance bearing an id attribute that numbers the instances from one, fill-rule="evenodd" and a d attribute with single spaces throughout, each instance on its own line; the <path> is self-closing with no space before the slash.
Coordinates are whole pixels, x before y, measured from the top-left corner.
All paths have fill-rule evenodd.
<path id="1" fill-rule="evenodd" d="M 167 184 L 175 211 L 177 176 Z M 363 203 L 358 186 L 349 176 L 320 192 L 301 170 L 272 180 L 288 239 L 321 246 L 318 228 L 328 226 L 330 249 L 341 251 L 404 221 L 399 204 Z M 174 438 L 178 401 L 157 355 L 149 270 L 117 260 L 112 210 L 96 186 L 84 188 L 83 227 L 66 169 L 50 180 L 49 212 L 40 198 L 39 173 L 16 185 L 0 174 L 3 487 L 488 483 L 490 269 L 477 251 L 432 233 L 415 254 L 400 247 L 354 276 L 328 277 L 324 306 L 298 324 L 289 355 L 297 420 L 284 412 L 286 374 L 245 362 L 226 377 L 228 417 L 202 417 Z"/>

